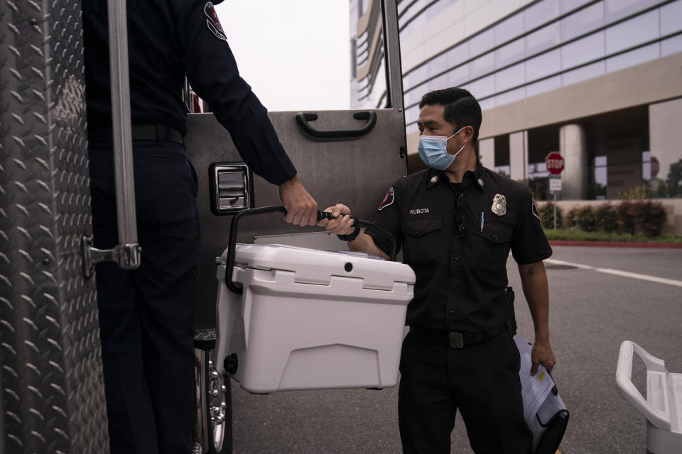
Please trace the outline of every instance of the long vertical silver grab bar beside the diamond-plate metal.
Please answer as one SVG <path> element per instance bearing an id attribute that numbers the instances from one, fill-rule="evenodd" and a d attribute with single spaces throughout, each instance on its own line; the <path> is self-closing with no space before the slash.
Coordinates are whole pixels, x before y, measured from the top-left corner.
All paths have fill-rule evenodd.
<path id="1" fill-rule="evenodd" d="M 83 273 L 91 277 L 94 264 L 104 260 L 117 262 L 123 270 L 140 266 L 141 250 L 137 242 L 133 138 L 130 120 L 130 81 L 128 68 L 128 23 L 126 0 L 109 0 L 109 66 L 112 85 L 112 138 L 119 245 L 111 250 L 92 247 L 92 237 L 83 237 Z"/>

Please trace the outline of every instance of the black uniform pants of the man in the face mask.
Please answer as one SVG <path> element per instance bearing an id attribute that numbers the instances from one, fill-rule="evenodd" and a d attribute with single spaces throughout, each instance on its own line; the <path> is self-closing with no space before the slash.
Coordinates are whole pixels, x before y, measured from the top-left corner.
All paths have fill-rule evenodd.
<path id="1" fill-rule="evenodd" d="M 398 414 L 403 452 L 449 454 L 459 409 L 477 454 L 530 454 L 519 350 L 507 331 L 450 348 L 408 333 L 401 353 Z"/>

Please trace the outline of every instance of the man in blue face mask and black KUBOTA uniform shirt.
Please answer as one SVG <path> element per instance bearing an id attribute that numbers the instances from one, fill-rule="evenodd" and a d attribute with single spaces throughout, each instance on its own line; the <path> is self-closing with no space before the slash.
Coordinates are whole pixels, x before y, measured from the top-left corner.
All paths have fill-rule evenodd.
<path id="1" fill-rule="evenodd" d="M 419 106 L 419 155 L 429 168 L 399 179 L 375 219 L 398 240 L 417 277 L 400 365 L 403 450 L 450 453 L 459 409 L 475 453 L 529 454 L 506 264 L 511 250 L 535 326 L 531 372 L 538 364 L 551 370 L 542 262 L 551 248 L 529 190 L 477 160 L 482 116 L 475 98 L 443 89 Z M 327 211 L 335 219 L 318 225 L 351 250 L 388 258 L 386 240 L 372 228 L 360 234 L 347 206 Z"/>

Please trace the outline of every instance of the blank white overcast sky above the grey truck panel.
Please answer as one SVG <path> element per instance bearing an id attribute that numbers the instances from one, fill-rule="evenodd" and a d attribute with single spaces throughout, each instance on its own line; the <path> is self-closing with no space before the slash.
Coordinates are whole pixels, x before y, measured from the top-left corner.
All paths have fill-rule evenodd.
<path id="1" fill-rule="evenodd" d="M 348 109 L 348 0 L 224 0 L 239 72 L 270 111 Z"/>

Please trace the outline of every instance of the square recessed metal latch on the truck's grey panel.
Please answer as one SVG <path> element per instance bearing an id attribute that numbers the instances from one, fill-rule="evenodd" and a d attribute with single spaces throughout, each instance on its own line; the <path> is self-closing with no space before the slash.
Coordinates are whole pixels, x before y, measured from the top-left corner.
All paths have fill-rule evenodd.
<path id="1" fill-rule="evenodd" d="M 253 176 L 249 166 L 213 164 L 209 175 L 213 214 L 232 214 L 253 207 Z"/>

